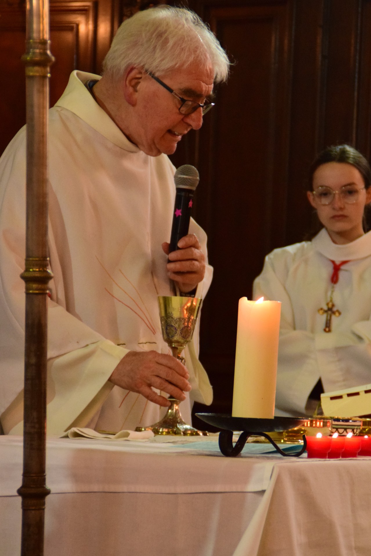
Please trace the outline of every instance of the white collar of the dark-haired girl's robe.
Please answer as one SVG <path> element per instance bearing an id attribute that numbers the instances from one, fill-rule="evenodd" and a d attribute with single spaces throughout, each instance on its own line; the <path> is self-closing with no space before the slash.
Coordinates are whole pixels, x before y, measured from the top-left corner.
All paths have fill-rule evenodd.
<path id="1" fill-rule="evenodd" d="M 338 245 L 331 240 L 327 230 L 323 228 L 313 240 L 314 249 L 333 261 L 354 261 L 371 255 L 371 231 L 349 244 Z"/>

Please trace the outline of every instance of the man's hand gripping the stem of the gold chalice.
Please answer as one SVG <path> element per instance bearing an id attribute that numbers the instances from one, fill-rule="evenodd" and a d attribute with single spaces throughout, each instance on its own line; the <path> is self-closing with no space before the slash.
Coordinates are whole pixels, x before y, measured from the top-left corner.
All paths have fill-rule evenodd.
<path id="1" fill-rule="evenodd" d="M 175 399 L 186 399 L 191 390 L 189 373 L 172 355 L 157 351 L 129 351 L 111 374 L 109 381 L 124 390 L 137 392 L 153 403 L 168 407 L 170 402 L 152 390 L 162 390 Z"/>

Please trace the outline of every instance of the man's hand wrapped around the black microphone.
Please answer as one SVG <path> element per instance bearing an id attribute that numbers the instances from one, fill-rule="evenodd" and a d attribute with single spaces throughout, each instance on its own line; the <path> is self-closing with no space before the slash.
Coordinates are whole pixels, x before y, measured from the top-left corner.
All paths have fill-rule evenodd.
<path id="1" fill-rule="evenodd" d="M 205 256 L 194 234 L 188 234 L 178 241 L 179 249 L 169 254 L 169 244 L 163 243 L 162 249 L 169 257 L 167 264 L 170 280 L 177 283 L 185 294 L 194 290 L 205 275 Z"/>

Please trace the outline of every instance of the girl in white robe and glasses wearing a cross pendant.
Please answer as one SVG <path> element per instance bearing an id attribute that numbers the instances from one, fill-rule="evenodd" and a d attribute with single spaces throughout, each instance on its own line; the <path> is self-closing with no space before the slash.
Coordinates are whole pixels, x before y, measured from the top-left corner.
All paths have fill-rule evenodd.
<path id="1" fill-rule="evenodd" d="M 275 249 L 254 299 L 282 302 L 276 415 L 313 414 L 320 391 L 371 383 L 369 163 L 349 145 L 321 152 L 307 197 L 322 229 Z"/>

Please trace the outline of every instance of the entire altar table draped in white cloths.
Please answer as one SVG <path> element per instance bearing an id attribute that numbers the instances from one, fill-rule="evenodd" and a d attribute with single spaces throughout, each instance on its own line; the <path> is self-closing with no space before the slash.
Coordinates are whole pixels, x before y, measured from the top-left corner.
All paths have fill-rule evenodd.
<path id="1" fill-rule="evenodd" d="M 216 438 L 48 439 L 45 556 L 369 554 L 369 458 L 261 449 L 226 458 Z M 0 436 L 4 556 L 20 554 L 21 475 L 22 438 Z"/>

